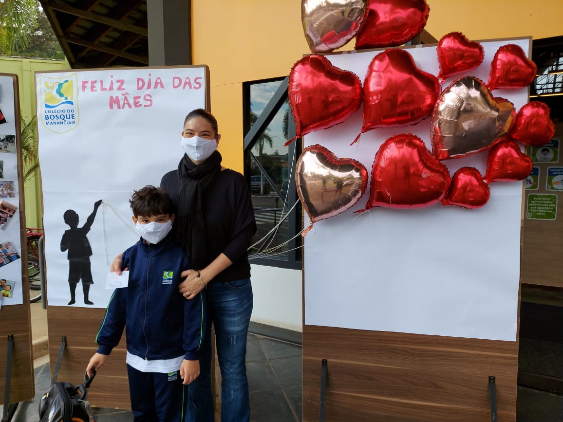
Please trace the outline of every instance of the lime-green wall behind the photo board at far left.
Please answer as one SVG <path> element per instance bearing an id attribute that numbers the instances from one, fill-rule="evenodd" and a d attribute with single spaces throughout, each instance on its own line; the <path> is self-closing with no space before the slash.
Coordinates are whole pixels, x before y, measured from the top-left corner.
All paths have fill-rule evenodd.
<path id="1" fill-rule="evenodd" d="M 26 122 L 35 114 L 35 77 L 39 70 L 70 69 L 65 60 L 20 59 L 17 57 L 0 57 L 0 71 L 16 74 L 20 89 L 20 109 Z M 41 215 L 41 183 L 36 173 L 26 181 L 25 222 L 27 227 L 43 227 Z"/>

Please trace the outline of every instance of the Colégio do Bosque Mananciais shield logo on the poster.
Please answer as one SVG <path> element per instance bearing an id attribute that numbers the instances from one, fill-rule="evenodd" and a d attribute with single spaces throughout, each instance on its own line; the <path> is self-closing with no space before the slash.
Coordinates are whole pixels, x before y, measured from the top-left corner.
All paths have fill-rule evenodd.
<path id="1" fill-rule="evenodd" d="M 47 129 L 56 133 L 72 131 L 79 122 L 78 75 L 50 78 L 39 75 L 40 118 Z"/>

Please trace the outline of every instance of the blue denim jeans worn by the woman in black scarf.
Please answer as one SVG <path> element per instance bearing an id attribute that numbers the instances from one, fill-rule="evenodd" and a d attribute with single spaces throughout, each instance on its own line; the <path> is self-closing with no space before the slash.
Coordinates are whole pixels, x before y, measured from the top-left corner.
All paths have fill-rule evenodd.
<path id="1" fill-rule="evenodd" d="M 213 422 L 211 394 L 211 324 L 215 327 L 217 358 L 221 369 L 221 421 L 250 420 L 246 375 L 246 343 L 253 298 L 250 279 L 207 285 L 207 335 L 199 360 L 199 377 L 189 385 L 197 420 Z"/>

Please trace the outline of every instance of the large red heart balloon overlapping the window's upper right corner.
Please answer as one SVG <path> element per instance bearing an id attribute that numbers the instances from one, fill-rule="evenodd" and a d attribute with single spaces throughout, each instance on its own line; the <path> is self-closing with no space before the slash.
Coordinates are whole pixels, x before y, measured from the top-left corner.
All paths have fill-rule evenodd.
<path id="1" fill-rule="evenodd" d="M 301 137 L 342 123 L 355 113 L 361 104 L 361 82 L 354 73 L 312 54 L 293 65 L 288 95 L 296 137 Z"/>

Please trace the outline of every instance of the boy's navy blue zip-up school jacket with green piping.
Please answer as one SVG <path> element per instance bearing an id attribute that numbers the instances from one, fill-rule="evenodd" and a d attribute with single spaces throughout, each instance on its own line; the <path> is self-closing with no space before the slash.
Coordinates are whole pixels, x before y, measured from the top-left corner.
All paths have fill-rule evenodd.
<path id="1" fill-rule="evenodd" d="M 186 300 L 178 291 L 189 270 L 184 251 L 169 233 L 158 244 L 139 240 L 122 255 L 126 288 L 115 289 L 96 335 L 98 353 L 110 354 L 126 327 L 127 351 L 147 360 L 184 355 L 197 360 L 205 333 L 205 290 Z"/>

